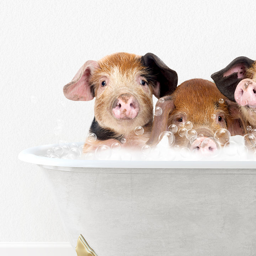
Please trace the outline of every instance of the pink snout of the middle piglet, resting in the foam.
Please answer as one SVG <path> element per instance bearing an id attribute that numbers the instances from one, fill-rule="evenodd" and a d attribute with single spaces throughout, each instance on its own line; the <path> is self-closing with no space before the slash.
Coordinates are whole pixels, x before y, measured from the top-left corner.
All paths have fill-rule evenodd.
<path id="1" fill-rule="evenodd" d="M 190 147 L 190 150 L 198 150 L 203 155 L 213 154 L 217 149 L 217 144 L 209 137 L 197 138 Z"/>

